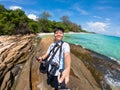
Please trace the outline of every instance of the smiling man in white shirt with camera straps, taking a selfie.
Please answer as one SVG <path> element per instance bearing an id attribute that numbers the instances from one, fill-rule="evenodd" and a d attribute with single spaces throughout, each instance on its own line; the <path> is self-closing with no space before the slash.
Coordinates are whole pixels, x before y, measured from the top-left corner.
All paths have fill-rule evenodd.
<path id="1" fill-rule="evenodd" d="M 55 71 L 54 75 L 52 75 L 52 81 L 53 81 L 53 87 L 55 90 L 58 90 L 58 86 L 62 83 L 62 88 L 64 89 L 65 85 L 69 82 L 69 75 L 70 75 L 70 65 L 71 65 L 71 57 L 70 57 L 70 46 L 68 43 L 63 42 L 62 38 L 64 36 L 64 29 L 61 27 L 55 28 L 54 29 L 54 43 L 52 43 L 48 50 L 47 53 L 41 57 L 38 58 L 39 62 L 42 62 L 45 58 L 48 57 L 49 53 L 51 50 L 55 47 L 56 44 L 58 46 L 61 46 L 61 52 L 60 48 L 56 52 L 55 56 L 52 58 L 52 62 L 57 63 L 59 66 L 57 70 Z M 56 49 L 57 50 L 57 46 Z M 53 50 L 53 51 L 55 51 Z M 53 53 L 49 55 L 49 57 L 52 57 Z M 59 60 L 60 59 L 60 60 Z M 52 64 L 49 64 L 48 68 L 48 76 L 51 72 Z M 60 70 L 63 70 L 62 75 L 60 76 Z M 51 76 L 50 76 L 51 77 Z M 48 77 L 48 79 L 50 78 Z M 51 81 L 50 81 L 51 82 Z M 65 82 L 65 83 L 63 83 Z"/>

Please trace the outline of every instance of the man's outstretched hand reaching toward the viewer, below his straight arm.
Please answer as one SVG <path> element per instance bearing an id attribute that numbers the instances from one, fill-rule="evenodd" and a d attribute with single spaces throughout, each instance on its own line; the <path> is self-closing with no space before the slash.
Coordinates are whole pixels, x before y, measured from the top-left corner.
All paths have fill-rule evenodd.
<path id="1" fill-rule="evenodd" d="M 65 84 L 69 82 L 69 72 L 65 69 L 62 72 L 62 76 L 60 77 L 60 74 L 58 75 L 58 82 L 62 83 L 65 80 Z"/>

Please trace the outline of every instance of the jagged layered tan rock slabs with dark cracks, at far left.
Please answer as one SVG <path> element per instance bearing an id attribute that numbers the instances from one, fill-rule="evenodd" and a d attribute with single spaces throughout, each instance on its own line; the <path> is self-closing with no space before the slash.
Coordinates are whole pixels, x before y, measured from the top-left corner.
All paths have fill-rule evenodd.
<path id="1" fill-rule="evenodd" d="M 33 35 L 0 37 L 0 90 L 10 90 L 28 61 Z M 26 78 L 26 77 L 24 77 Z"/>

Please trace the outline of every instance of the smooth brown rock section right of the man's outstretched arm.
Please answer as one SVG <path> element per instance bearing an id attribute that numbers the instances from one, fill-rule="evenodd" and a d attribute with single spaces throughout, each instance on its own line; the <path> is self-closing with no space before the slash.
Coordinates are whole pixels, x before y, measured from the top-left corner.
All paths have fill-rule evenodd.
<path id="1" fill-rule="evenodd" d="M 69 87 L 72 90 L 100 90 L 91 72 L 85 67 L 82 61 L 74 54 L 71 54 L 71 77 Z"/>

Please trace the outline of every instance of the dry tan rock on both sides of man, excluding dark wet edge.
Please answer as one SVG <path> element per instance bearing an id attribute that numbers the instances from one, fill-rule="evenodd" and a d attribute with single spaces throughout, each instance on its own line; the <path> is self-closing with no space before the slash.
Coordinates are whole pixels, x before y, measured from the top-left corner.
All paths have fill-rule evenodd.
<path id="1" fill-rule="evenodd" d="M 46 74 L 39 72 L 40 64 L 35 59 L 46 53 L 52 42 L 52 37 L 39 39 L 31 35 L 3 38 L 0 43 L 0 90 L 52 90 L 47 85 Z M 71 51 L 70 82 L 67 86 L 71 90 L 101 90 L 90 70 L 76 57 L 73 47 Z"/>

